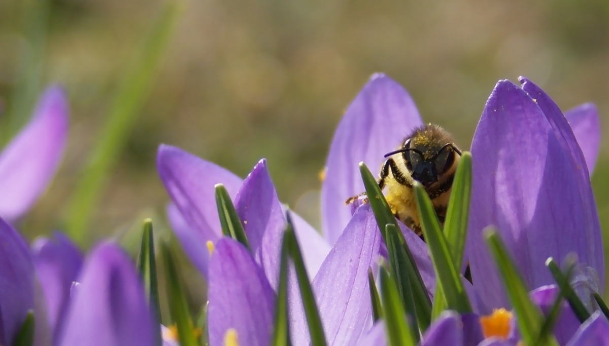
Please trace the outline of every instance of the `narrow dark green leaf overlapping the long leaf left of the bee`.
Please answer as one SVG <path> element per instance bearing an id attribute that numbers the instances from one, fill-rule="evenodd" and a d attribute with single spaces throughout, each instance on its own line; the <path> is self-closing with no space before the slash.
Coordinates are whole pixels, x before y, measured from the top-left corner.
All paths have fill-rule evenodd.
<path id="1" fill-rule="evenodd" d="M 408 316 L 412 317 L 412 321 L 409 324 L 409 327 L 412 328 L 410 334 L 412 334 L 418 342 L 419 319 L 417 318 L 418 311 L 416 299 L 414 298 L 412 289 L 410 289 L 410 278 L 409 275 L 396 274 L 406 270 L 404 267 L 407 266 L 407 257 L 406 254 L 404 254 L 403 247 L 398 244 L 399 241 L 396 239 L 395 234 L 397 232 L 395 226 L 393 224 L 387 224 L 387 226 L 385 226 L 385 233 L 387 234 L 387 254 L 389 255 L 389 263 L 391 264 L 392 280 L 396 283 L 398 296 L 400 302 L 402 302 L 402 310 L 404 310 Z M 393 279 L 393 277 L 395 277 L 395 279 Z"/>

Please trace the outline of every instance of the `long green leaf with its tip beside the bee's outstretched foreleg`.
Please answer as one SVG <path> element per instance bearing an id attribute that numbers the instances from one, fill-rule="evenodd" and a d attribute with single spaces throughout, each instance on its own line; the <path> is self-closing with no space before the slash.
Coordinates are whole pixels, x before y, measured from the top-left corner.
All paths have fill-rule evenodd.
<path id="1" fill-rule="evenodd" d="M 376 223 L 379 224 L 385 244 L 388 244 L 387 239 L 390 236 L 387 234 L 385 225 L 392 224 L 395 226 L 395 232 L 392 232 L 392 235 L 395 236 L 395 243 L 400 244 L 400 246 L 395 246 L 393 249 L 395 251 L 399 249 L 400 254 L 392 254 L 393 250 L 389 250 L 388 246 L 390 266 L 393 275 L 395 275 L 396 282 L 402 283 L 401 287 L 408 288 L 409 292 L 412 292 L 400 291 L 400 297 L 404 298 L 407 294 L 412 294 L 416 306 L 416 315 L 413 319 L 417 320 L 418 328 L 421 331 L 425 331 L 429 327 L 429 324 L 431 324 L 431 300 L 421 278 L 421 273 L 418 271 L 414 257 L 412 257 L 406 240 L 404 240 L 404 235 L 400 232 L 400 225 L 395 216 L 393 216 L 389 204 L 387 204 L 387 200 L 379 188 L 378 182 L 376 182 L 370 170 L 368 170 L 368 167 L 363 162 L 359 164 L 359 170 L 364 181 L 368 201 L 370 201 L 370 206 L 375 214 Z M 403 258 L 401 265 L 396 263 L 396 260 L 400 258 Z M 404 303 L 404 300 L 402 302 Z"/>

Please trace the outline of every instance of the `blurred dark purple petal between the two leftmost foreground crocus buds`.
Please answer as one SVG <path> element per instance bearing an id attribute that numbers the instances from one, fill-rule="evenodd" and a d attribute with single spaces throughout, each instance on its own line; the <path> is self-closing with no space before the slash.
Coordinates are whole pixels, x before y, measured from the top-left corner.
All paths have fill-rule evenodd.
<path id="1" fill-rule="evenodd" d="M 32 259 L 46 298 L 49 324 L 57 336 L 68 309 L 72 282 L 80 273 L 83 256 L 68 237 L 57 233 L 52 240 L 38 238 L 33 242 Z"/>

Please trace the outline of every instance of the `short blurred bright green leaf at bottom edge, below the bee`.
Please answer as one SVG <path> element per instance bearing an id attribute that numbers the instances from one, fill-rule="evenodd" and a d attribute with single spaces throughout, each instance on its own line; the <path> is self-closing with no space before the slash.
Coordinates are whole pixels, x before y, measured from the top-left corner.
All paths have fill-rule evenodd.
<path id="1" fill-rule="evenodd" d="M 385 313 L 385 330 L 387 330 L 387 344 L 390 346 L 414 346 L 415 334 L 409 326 L 406 311 L 400 303 L 400 294 L 395 280 L 385 268 L 381 267 L 382 305 Z M 418 330 L 414 330 L 418 334 Z M 418 339 L 418 338 L 417 338 Z"/>

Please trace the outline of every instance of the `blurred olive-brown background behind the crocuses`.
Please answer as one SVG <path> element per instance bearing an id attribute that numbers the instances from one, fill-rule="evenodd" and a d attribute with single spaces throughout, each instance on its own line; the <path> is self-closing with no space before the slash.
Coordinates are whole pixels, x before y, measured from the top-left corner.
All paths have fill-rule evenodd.
<path id="1" fill-rule="evenodd" d="M 65 159 L 24 221 L 30 238 L 65 227 L 66 205 L 124 76 L 166 0 L 0 0 L 0 142 L 48 83 L 69 94 Z M 609 128 L 609 2 L 190 0 L 137 121 L 105 175 L 84 246 L 152 217 L 169 200 L 160 143 L 245 176 L 261 157 L 282 201 L 319 224 L 319 172 L 334 128 L 373 72 L 412 95 L 424 120 L 468 148 L 496 81 L 526 75 L 564 110 L 594 102 Z M 609 230 L 605 136 L 593 176 Z M 607 245 L 605 249 L 607 249 Z M 196 279 L 193 279 L 196 280 Z"/>

